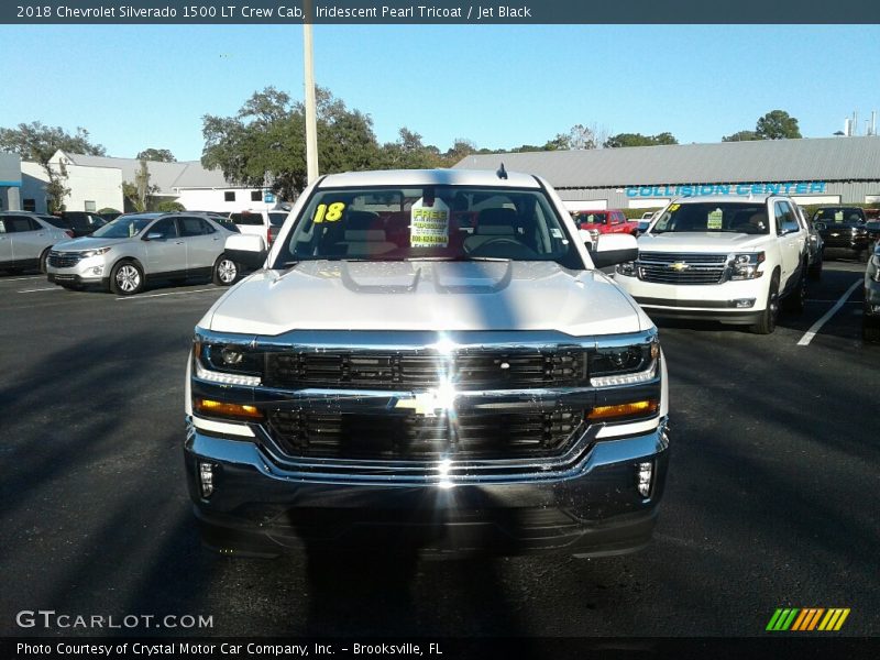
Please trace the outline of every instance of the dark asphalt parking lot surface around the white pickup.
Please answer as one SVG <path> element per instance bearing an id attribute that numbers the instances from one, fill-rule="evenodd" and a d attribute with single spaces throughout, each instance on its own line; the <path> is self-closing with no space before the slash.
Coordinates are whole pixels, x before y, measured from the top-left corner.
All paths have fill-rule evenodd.
<path id="1" fill-rule="evenodd" d="M 880 345 L 860 339 L 860 288 L 805 342 L 862 273 L 826 262 L 769 337 L 660 324 L 673 453 L 649 549 L 470 561 L 204 551 L 184 369 L 223 289 L 0 276 L 0 635 L 96 632 L 15 623 L 53 609 L 212 617 L 130 631 L 151 635 L 756 636 L 778 607 L 847 607 L 839 635 L 880 635 Z"/>

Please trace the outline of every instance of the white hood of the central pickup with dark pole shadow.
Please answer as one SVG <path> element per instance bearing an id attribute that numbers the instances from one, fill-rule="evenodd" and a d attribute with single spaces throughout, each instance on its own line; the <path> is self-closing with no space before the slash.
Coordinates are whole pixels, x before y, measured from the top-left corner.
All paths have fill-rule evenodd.
<path id="1" fill-rule="evenodd" d="M 553 262 L 301 262 L 261 271 L 199 323 L 219 332 L 557 330 L 637 332 L 651 321 L 597 271 Z"/>

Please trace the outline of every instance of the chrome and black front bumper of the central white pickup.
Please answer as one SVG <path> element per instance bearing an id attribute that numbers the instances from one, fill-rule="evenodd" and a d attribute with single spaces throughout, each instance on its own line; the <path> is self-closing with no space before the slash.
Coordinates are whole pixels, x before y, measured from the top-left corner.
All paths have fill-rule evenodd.
<path id="1" fill-rule="evenodd" d="M 669 461 L 666 420 L 640 435 L 585 443 L 569 465 L 515 473 L 466 469 L 366 474 L 279 464 L 258 443 L 188 420 L 185 461 L 206 544 L 275 556 L 295 548 L 419 554 L 631 552 L 650 539 Z M 601 425 L 597 425 L 601 427 Z M 638 464 L 651 463 L 647 497 Z M 202 497 L 201 463 L 213 466 Z"/>

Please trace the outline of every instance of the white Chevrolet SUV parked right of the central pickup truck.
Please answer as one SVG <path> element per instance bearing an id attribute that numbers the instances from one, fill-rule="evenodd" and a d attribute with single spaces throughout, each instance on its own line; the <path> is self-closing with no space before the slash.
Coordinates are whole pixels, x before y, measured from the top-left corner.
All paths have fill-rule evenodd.
<path id="1" fill-rule="evenodd" d="M 780 300 L 803 309 L 807 230 L 788 197 L 689 197 L 639 237 L 616 279 L 651 316 L 776 329 Z"/>

